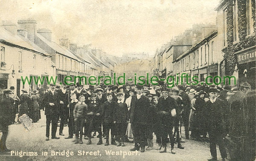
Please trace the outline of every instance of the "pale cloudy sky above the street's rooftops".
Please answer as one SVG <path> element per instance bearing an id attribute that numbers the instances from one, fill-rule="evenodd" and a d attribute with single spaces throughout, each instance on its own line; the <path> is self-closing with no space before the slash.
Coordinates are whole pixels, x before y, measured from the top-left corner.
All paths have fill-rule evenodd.
<path id="1" fill-rule="evenodd" d="M 0 0 L 0 20 L 33 18 L 52 40 L 66 36 L 107 54 L 146 52 L 193 24 L 215 24 L 220 0 Z"/>

